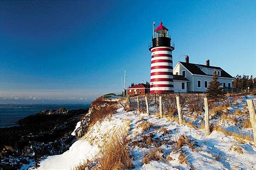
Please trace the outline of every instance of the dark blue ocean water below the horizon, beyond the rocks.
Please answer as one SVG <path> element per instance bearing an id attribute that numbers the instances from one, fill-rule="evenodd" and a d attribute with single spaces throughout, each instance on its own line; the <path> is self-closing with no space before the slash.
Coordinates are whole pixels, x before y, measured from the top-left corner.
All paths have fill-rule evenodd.
<path id="1" fill-rule="evenodd" d="M 90 104 L 0 104 L 0 128 L 17 125 L 19 119 L 43 110 L 65 107 L 67 110 L 88 108 Z"/>

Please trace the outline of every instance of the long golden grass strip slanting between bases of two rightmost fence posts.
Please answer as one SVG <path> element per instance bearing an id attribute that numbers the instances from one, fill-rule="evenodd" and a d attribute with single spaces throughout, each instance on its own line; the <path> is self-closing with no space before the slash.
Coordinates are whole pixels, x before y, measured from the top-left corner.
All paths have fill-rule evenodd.
<path id="1" fill-rule="evenodd" d="M 242 134 L 239 134 L 236 132 L 228 132 L 228 131 L 224 130 L 223 128 L 221 128 L 220 126 L 214 126 L 213 130 L 221 132 L 227 136 L 234 137 L 235 140 L 241 142 L 242 144 L 245 144 L 246 140 L 253 141 L 252 137 L 249 135 L 242 135 Z"/>

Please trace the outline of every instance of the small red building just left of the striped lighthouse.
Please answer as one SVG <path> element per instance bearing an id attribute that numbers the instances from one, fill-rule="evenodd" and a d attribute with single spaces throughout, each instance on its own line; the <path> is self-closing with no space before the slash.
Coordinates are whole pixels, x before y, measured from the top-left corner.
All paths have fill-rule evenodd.
<path id="1" fill-rule="evenodd" d="M 149 92 L 150 92 L 150 87 L 143 83 L 135 86 L 131 86 L 126 89 L 126 93 L 129 94 L 129 96 L 142 95 Z"/>

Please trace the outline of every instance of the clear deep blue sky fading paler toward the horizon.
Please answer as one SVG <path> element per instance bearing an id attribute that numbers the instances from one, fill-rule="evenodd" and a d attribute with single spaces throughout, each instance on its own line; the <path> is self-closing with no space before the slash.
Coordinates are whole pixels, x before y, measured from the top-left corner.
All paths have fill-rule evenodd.
<path id="1" fill-rule="evenodd" d="M 0 1 L 0 103 L 90 103 L 150 81 L 152 23 L 173 64 L 256 76 L 256 1 Z"/>

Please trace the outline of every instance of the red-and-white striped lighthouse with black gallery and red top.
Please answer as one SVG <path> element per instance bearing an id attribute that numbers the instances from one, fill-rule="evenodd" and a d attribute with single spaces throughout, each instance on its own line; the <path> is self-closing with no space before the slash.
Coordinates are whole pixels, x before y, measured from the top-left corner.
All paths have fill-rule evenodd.
<path id="1" fill-rule="evenodd" d="M 173 93 L 173 65 L 172 51 L 174 43 L 168 29 L 160 22 L 154 29 L 152 42 L 149 44 L 151 51 L 150 93 Z"/>

